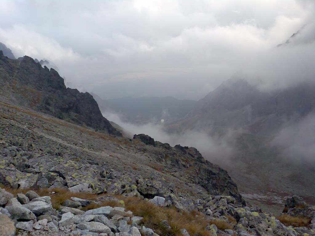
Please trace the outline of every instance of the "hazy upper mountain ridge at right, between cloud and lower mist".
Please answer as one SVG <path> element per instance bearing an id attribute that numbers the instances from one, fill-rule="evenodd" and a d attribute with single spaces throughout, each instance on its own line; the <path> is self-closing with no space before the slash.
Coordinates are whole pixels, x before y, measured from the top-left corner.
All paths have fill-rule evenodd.
<path id="1" fill-rule="evenodd" d="M 267 134 L 280 129 L 290 119 L 299 120 L 314 112 L 315 85 L 261 92 L 242 79 L 223 82 L 198 101 L 181 128 L 232 128 L 252 134 Z"/>

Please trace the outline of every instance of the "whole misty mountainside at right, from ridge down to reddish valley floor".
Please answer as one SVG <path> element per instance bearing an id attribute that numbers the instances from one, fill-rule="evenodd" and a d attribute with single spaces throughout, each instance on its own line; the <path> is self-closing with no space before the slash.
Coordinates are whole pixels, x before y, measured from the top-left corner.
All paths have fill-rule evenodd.
<path id="1" fill-rule="evenodd" d="M 312 122 L 306 124 L 314 117 L 314 107 L 314 84 L 262 92 L 245 80 L 232 79 L 200 99 L 168 130 L 207 132 L 228 143 L 229 156 L 207 155 L 207 147 L 198 148 L 207 160 L 228 170 L 246 200 L 267 210 L 283 195 L 300 194 L 315 201 L 314 155 L 294 152 L 302 145 L 315 146 L 310 132 L 296 133 L 314 129 Z M 275 142 L 279 138 L 281 145 Z"/>

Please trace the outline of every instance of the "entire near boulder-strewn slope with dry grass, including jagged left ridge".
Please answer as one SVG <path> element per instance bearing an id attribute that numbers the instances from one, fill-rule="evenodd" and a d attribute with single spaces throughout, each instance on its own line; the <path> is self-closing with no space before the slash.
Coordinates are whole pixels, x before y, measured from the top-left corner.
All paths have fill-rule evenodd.
<path id="1" fill-rule="evenodd" d="M 193 147 L 123 137 L 93 97 L 0 54 L 0 235 L 311 236 L 298 196 L 272 216 Z"/>

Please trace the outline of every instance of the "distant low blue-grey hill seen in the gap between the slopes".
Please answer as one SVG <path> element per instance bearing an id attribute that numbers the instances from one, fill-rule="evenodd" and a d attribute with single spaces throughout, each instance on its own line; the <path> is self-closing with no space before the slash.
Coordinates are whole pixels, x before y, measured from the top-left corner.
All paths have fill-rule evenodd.
<path id="1" fill-rule="evenodd" d="M 97 100 L 95 98 L 95 100 Z M 112 111 L 119 114 L 123 121 L 135 124 L 149 122 L 169 123 L 186 115 L 193 109 L 197 101 L 180 100 L 172 97 L 139 97 L 139 98 L 114 98 L 97 100 L 104 104 L 105 111 Z M 102 110 L 102 111 L 104 111 Z"/>

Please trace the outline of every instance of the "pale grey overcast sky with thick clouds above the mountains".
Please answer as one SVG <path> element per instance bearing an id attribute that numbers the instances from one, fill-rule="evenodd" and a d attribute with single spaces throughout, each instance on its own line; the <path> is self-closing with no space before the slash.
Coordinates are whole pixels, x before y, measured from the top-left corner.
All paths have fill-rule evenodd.
<path id="1" fill-rule="evenodd" d="M 199 99 L 235 74 L 261 89 L 314 80 L 314 10 L 313 0 L 0 0 L 0 42 L 103 98 Z"/>

